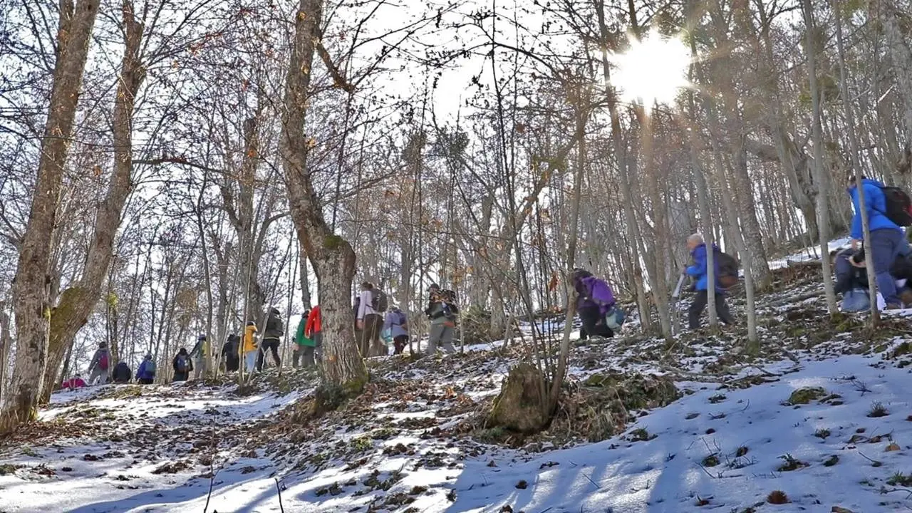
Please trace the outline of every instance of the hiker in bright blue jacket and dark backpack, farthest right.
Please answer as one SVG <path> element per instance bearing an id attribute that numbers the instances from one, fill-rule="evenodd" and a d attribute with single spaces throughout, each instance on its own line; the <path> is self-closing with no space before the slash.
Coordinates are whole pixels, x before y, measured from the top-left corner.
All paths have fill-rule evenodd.
<path id="1" fill-rule="evenodd" d="M 868 228 L 871 231 L 872 263 L 874 264 L 874 274 L 877 283 L 877 290 L 884 298 L 886 309 L 902 309 L 902 300 L 896 293 L 896 281 L 890 269 L 896 261 L 896 257 L 905 257 L 909 254 L 909 245 L 906 236 L 900 225 L 896 224 L 894 209 L 890 208 L 888 198 L 885 194 L 883 183 L 871 180 L 865 176 L 861 177 L 862 191 L 865 194 L 865 211 L 867 213 Z M 848 194 L 852 198 L 852 207 L 855 215 L 852 217 L 852 249 L 857 249 L 864 232 L 861 222 L 861 208 L 858 201 L 858 187 L 855 182 L 855 176 L 849 178 Z M 893 192 L 899 192 L 898 189 L 891 189 L 890 199 L 894 199 Z M 889 214 L 888 214 L 889 213 Z M 908 215 L 908 213 L 905 213 Z"/>

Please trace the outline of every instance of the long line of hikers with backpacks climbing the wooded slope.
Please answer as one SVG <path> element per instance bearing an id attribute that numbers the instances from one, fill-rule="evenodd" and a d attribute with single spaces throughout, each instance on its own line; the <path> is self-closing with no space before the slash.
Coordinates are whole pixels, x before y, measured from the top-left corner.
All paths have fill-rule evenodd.
<path id="1" fill-rule="evenodd" d="M 844 311 L 863 311 L 871 307 L 868 292 L 866 258 L 872 259 L 876 288 L 878 290 L 878 308 L 903 309 L 912 306 L 912 248 L 907 242 L 905 227 L 912 225 L 912 201 L 901 189 L 887 187 L 884 183 L 861 178 L 865 198 L 865 213 L 870 231 L 870 247 L 862 243 L 862 209 L 860 208 L 859 190 L 855 177 L 849 178 L 847 193 L 852 199 L 854 217 L 852 220 L 851 244 L 845 249 L 834 251 L 835 290 L 842 295 Z M 691 277 L 694 292 L 688 309 L 689 329 L 700 328 L 700 318 L 709 303 L 709 249 L 700 234 L 687 239 L 692 264 L 683 269 L 682 274 Z M 728 288 L 738 281 L 737 261 L 712 246 L 714 256 L 714 281 L 716 290 L 716 314 L 726 325 L 735 322 L 725 301 Z M 605 280 L 593 276 L 585 269 L 574 270 L 573 286 L 576 292 L 576 312 L 582 322 L 581 338 L 611 338 L 624 324 L 626 315 L 617 307 L 611 287 Z M 428 308 L 424 314 L 430 320 L 428 352 L 453 352 L 453 341 L 456 337 L 456 323 L 459 307 L 456 304 L 456 293 L 432 284 L 428 290 Z M 385 292 L 370 282 L 360 285 L 355 297 L 353 313 L 355 317 L 355 336 L 358 351 L 364 358 L 389 354 L 392 345 L 393 354 L 401 354 L 406 347 L 411 350 L 409 341 L 409 316 L 395 304 L 389 304 Z M 262 372 L 267 353 L 272 355 L 276 367 L 281 367 L 279 356 L 282 337 L 285 335 L 285 323 L 278 309 L 267 312 L 262 338 L 256 323 L 250 320 L 244 327 L 243 335 L 232 334 L 225 341 L 220 365 L 226 372 L 236 372 L 243 361 L 245 372 Z M 313 367 L 320 361 L 322 347 L 323 319 L 319 305 L 302 312 L 294 337 L 292 365 L 294 367 Z M 206 369 L 207 344 L 206 336 L 196 340 L 192 351 L 181 348 L 171 361 L 173 381 L 184 382 L 193 378 L 199 379 Z M 62 388 L 76 389 L 95 383 L 125 383 L 134 376 L 130 365 L 120 361 L 109 372 L 109 351 L 107 343 L 98 346 L 89 364 L 88 383 L 79 374 L 66 380 Z M 151 354 L 147 354 L 136 372 L 136 382 L 149 384 L 155 381 L 156 366 Z"/>

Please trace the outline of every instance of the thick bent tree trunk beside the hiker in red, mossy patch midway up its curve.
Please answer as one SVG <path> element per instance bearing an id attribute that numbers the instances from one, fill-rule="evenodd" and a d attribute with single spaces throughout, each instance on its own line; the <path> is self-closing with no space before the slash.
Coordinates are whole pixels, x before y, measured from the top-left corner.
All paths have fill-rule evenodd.
<path id="1" fill-rule="evenodd" d="M 350 393 L 358 393 L 368 382 L 368 372 L 353 331 L 351 282 L 355 277 L 355 252 L 326 225 L 322 204 L 307 170 L 310 147 L 304 133 L 307 89 L 322 18 L 322 0 L 300 0 L 295 13 L 295 42 L 285 79 L 280 151 L 292 220 L 306 249 L 302 257 L 310 258 L 318 283 L 323 315 L 323 379 L 328 384 L 345 387 Z"/>

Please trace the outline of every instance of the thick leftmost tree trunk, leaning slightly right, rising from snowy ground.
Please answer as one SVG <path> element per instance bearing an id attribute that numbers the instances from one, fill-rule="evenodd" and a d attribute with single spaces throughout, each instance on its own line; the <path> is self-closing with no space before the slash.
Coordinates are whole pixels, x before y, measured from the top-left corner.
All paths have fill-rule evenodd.
<path id="1" fill-rule="evenodd" d="M 98 0 L 79 0 L 77 5 L 67 0 L 61 2 L 54 83 L 41 140 L 35 193 L 13 284 L 16 364 L 10 383 L 11 396 L 0 413 L 0 433 L 35 420 L 38 414 L 47 369 L 51 239 L 57 224 L 64 165 L 96 16 Z"/>

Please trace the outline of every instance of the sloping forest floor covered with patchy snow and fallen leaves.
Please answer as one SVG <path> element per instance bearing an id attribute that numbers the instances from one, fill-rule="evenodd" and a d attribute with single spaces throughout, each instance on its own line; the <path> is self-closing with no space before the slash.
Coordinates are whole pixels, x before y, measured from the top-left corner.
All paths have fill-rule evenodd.
<path id="1" fill-rule="evenodd" d="M 314 422 L 306 371 L 57 393 L 0 440 L 0 512 L 912 509 L 908 320 L 830 320 L 817 272 L 776 271 L 759 352 L 740 327 L 575 342 L 528 437 L 485 422 L 528 344 L 372 359 L 367 392 Z"/>

